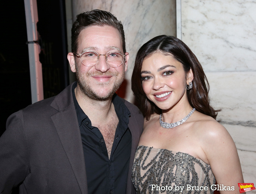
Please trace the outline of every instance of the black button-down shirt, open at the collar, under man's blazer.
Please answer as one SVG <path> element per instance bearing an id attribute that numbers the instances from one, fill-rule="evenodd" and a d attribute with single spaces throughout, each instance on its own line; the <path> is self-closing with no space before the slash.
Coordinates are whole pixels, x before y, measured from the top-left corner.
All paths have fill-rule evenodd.
<path id="1" fill-rule="evenodd" d="M 120 97 L 114 94 L 112 103 L 119 123 L 109 159 L 104 138 L 99 129 L 91 125 L 90 119 L 79 106 L 75 88 L 76 84 L 73 85 L 72 93 L 82 136 L 88 193 L 124 194 L 132 145 L 131 132 L 128 128 L 131 113 Z"/>

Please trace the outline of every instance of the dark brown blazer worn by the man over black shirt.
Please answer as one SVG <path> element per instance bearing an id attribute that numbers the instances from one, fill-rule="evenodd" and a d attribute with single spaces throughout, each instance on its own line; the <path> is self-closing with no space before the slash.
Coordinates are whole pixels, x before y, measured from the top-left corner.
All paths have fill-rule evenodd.
<path id="1" fill-rule="evenodd" d="M 73 83 L 74 84 L 74 83 Z M 0 137 L 0 193 L 87 194 L 87 178 L 72 85 L 55 97 L 12 114 Z M 143 129 L 139 109 L 123 100 L 131 116 L 132 151 L 127 194 L 135 193 L 132 164 Z"/>

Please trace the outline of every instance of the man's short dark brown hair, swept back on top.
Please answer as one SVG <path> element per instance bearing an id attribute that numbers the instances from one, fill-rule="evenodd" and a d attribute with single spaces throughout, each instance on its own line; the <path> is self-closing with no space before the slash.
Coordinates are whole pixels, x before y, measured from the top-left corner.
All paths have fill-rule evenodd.
<path id="1" fill-rule="evenodd" d="M 76 20 L 73 23 L 73 26 L 71 29 L 72 53 L 77 53 L 78 36 L 84 28 L 89 26 L 105 26 L 105 25 L 112 26 L 118 30 L 123 43 L 123 51 L 124 53 L 126 53 L 123 24 L 121 23 L 121 21 L 118 21 L 116 16 L 114 16 L 112 13 L 108 11 L 102 11 L 99 9 L 82 12 L 76 16 Z"/>

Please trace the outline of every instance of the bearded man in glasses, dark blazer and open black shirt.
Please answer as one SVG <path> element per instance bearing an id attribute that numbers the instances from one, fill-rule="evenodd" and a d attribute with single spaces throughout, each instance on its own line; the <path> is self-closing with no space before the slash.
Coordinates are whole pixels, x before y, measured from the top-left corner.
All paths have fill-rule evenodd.
<path id="1" fill-rule="evenodd" d="M 77 16 L 68 53 L 77 82 L 11 115 L 0 138 L 0 192 L 135 193 L 131 168 L 143 128 L 116 94 L 127 70 L 123 25 L 111 13 Z"/>

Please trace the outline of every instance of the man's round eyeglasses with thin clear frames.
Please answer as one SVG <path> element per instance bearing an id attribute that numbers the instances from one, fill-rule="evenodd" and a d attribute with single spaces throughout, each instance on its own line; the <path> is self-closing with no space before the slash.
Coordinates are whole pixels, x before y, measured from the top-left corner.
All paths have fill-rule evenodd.
<path id="1" fill-rule="evenodd" d="M 73 54 L 79 55 L 81 63 L 87 67 L 94 66 L 98 62 L 99 56 L 102 55 L 102 54 L 99 55 L 93 51 L 87 51 L 81 54 L 78 54 L 78 53 L 73 53 Z M 113 53 L 105 54 L 103 56 L 106 57 L 106 62 L 110 67 L 119 67 L 125 61 L 124 57 L 126 55 L 118 52 L 113 52 Z"/>

